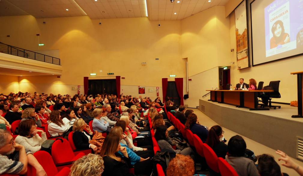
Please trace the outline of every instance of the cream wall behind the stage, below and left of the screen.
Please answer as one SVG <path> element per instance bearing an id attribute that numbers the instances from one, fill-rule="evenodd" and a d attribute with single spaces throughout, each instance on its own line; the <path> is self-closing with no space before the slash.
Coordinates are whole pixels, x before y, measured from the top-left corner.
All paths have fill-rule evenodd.
<path id="1" fill-rule="evenodd" d="M 250 3 L 248 1 L 248 3 Z M 249 12 L 249 7 L 248 7 Z M 249 13 L 248 13 L 249 15 Z M 235 13 L 229 15 L 230 23 L 230 47 L 236 48 L 235 39 Z M 248 18 L 250 20 L 250 18 Z M 250 25 L 250 21 L 248 21 Z M 249 45 L 251 45 L 249 32 Z M 251 46 L 250 46 L 251 47 Z M 275 98 L 273 101 L 290 103 L 290 101 L 298 100 L 297 95 L 297 76 L 290 75 L 290 72 L 303 70 L 303 56 L 297 56 L 293 58 L 284 59 L 281 61 L 275 61 L 263 65 L 254 66 L 251 68 L 245 68 L 237 70 L 236 52 L 231 54 L 231 61 L 235 62 L 231 65 L 231 84 L 238 83 L 239 78 L 244 78 L 244 81 L 248 83 L 250 78 L 254 78 L 257 82 L 264 81 L 264 86 L 268 85 L 270 81 L 280 80 L 279 92 L 281 98 Z M 250 64 L 251 60 L 251 48 L 250 48 Z M 251 64 L 252 65 L 252 64 Z"/>

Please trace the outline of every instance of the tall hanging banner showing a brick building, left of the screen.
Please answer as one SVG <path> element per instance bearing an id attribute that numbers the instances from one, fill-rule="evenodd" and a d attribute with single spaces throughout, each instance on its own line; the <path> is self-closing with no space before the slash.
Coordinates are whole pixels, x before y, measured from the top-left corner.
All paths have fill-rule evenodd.
<path id="1" fill-rule="evenodd" d="M 246 0 L 235 9 L 237 67 L 238 70 L 249 67 Z"/>

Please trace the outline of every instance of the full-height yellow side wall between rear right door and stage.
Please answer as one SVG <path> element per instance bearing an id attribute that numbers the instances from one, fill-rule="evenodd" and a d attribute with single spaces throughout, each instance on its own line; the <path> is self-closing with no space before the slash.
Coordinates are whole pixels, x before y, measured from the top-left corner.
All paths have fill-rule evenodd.
<path id="1" fill-rule="evenodd" d="M 208 89 L 218 87 L 218 66 L 230 62 L 229 18 L 215 6 L 181 20 L 182 58 L 188 58 L 188 107 L 199 106 Z M 186 89 L 186 82 L 185 88 Z"/>

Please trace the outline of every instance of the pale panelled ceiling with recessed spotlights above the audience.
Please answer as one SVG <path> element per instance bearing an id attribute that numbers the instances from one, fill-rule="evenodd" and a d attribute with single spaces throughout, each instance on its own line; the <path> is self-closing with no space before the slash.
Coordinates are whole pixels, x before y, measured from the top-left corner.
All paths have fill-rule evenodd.
<path id="1" fill-rule="evenodd" d="M 148 15 L 149 20 L 181 20 L 228 2 L 228 0 L 211 2 L 179 0 L 180 3 L 177 1 L 171 3 L 170 0 L 0 0 L 0 16 L 33 15 L 35 18 L 54 18 L 88 15 L 91 19 L 104 19 Z"/>

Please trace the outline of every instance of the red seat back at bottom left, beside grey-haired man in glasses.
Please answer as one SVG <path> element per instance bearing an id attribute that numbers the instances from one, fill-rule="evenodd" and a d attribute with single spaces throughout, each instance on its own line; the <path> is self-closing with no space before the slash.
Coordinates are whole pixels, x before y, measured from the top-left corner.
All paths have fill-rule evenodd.
<path id="1" fill-rule="evenodd" d="M 46 151 L 37 151 L 34 153 L 35 158 L 41 164 L 48 176 L 54 176 L 58 173 L 58 170 L 54 164 L 51 155 Z M 36 176 L 36 169 L 28 164 L 27 176 Z"/>

